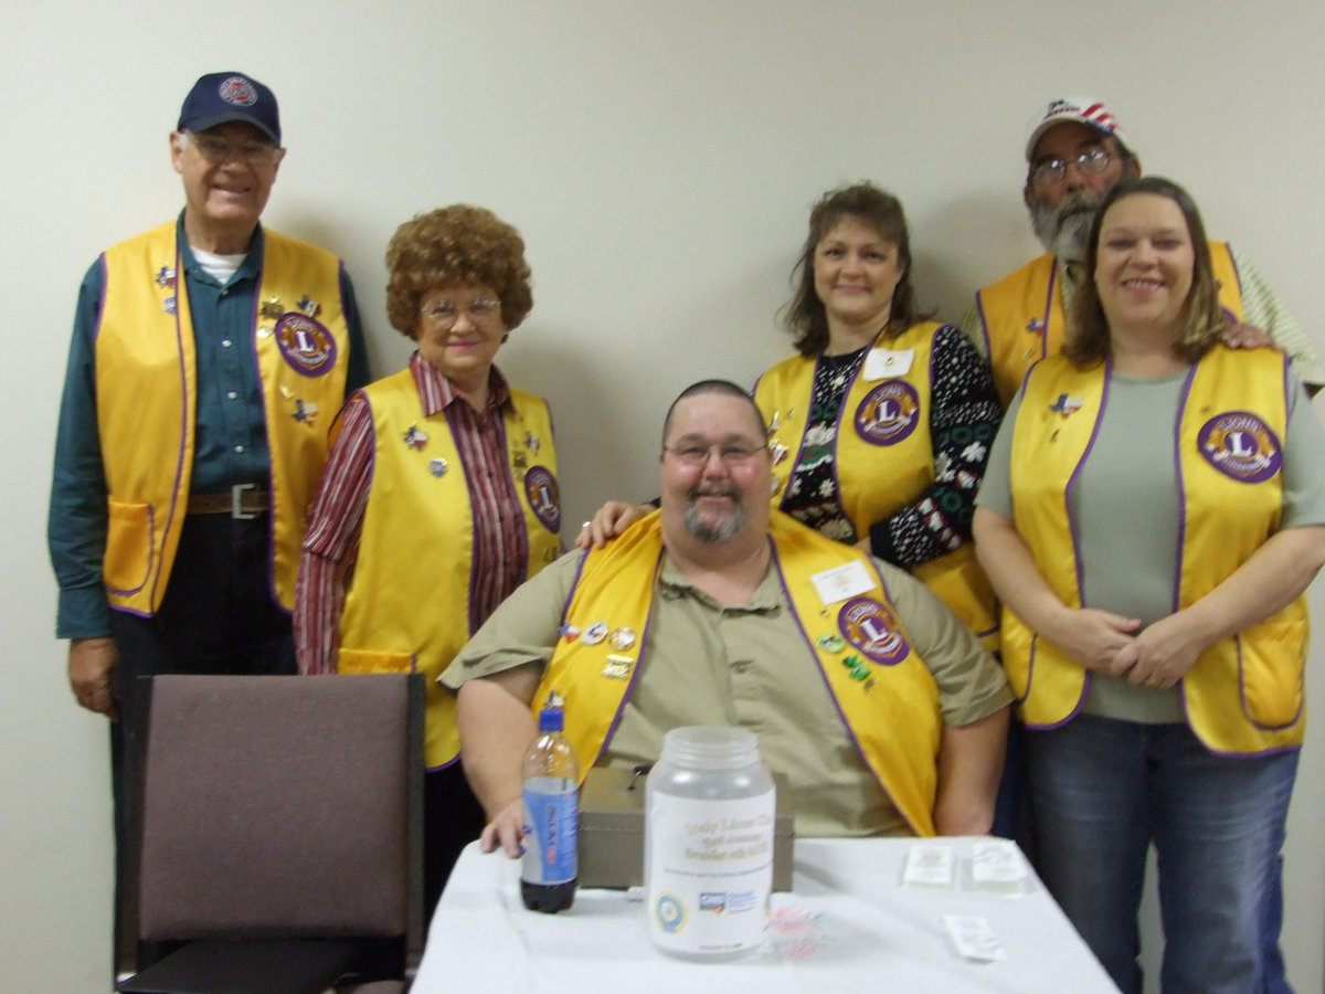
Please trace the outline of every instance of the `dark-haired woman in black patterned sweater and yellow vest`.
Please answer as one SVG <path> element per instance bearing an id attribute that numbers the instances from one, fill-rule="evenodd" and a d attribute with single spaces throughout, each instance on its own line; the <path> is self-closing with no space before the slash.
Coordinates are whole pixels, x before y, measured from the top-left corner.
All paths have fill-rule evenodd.
<path id="1" fill-rule="evenodd" d="M 815 204 L 787 305 L 799 355 L 754 390 L 774 500 L 910 570 L 992 648 L 970 526 L 1002 410 L 970 341 L 917 313 L 910 268 L 897 197 L 857 183 Z"/>

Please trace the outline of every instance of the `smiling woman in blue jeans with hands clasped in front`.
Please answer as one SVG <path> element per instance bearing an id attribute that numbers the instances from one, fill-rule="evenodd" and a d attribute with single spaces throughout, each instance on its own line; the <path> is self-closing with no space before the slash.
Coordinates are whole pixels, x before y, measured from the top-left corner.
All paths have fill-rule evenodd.
<path id="1" fill-rule="evenodd" d="M 1124 991 L 1158 852 L 1165 990 L 1261 990 L 1302 742 L 1321 432 L 1288 359 L 1219 342 L 1191 197 L 1116 187 L 1063 355 L 1008 410 L 975 512 L 1027 726 L 1036 867 Z"/>

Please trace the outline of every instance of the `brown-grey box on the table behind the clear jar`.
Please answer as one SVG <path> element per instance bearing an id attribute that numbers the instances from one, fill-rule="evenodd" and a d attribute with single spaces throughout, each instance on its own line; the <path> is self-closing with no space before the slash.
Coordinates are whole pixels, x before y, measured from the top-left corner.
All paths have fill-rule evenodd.
<path id="1" fill-rule="evenodd" d="M 796 831 L 787 781 L 778 790 L 772 830 L 772 889 L 791 889 Z M 647 773 L 595 766 L 580 787 L 579 885 L 625 889 L 644 884 L 644 787 Z"/>

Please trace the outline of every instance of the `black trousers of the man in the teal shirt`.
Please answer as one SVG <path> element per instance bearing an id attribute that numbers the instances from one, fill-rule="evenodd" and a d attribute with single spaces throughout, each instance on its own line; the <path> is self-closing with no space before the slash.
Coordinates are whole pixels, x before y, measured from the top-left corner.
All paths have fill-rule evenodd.
<path id="1" fill-rule="evenodd" d="M 290 616 L 277 606 L 270 590 L 269 526 L 266 514 L 248 521 L 228 514 L 184 518 L 179 553 L 156 614 L 139 618 L 110 612 L 119 649 L 115 692 L 121 718 L 110 726 L 118 950 L 131 949 L 134 942 L 134 922 L 121 921 L 119 909 L 130 883 L 125 861 L 135 787 L 130 783 L 129 740 L 142 722 L 138 677 L 295 672 Z"/>

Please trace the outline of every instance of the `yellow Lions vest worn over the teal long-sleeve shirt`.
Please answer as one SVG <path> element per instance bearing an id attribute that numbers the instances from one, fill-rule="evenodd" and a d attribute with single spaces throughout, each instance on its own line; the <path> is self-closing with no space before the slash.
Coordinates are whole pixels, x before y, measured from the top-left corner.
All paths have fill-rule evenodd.
<path id="1" fill-rule="evenodd" d="M 166 595 L 193 468 L 197 359 L 176 231 L 163 224 L 102 256 L 97 424 L 110 513 L 102 574 L 110 606 L 139 615 Z M 318 412 L 330 417 L 344 400 L 350 334 L 339 260 L 265 228 L 262 239 L 253 334 L 272 453 L 272 587 L 290 611 L 327 457 Z"/>

